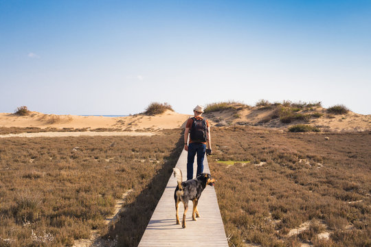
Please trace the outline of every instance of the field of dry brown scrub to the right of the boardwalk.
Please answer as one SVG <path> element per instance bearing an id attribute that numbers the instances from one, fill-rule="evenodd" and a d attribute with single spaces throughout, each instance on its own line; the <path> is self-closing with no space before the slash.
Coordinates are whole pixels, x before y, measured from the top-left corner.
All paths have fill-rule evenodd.
<path id="1" fill-rule="evenodd" d="M 330 141 L 250 127 L 212 134 L 209 165 L 229 246 L 370 246 L 370 134 L 327 133 Z M 318 221 L 330 239 L 319 239 Z M 288 236 L 304 222 L 308 229 Z"/>

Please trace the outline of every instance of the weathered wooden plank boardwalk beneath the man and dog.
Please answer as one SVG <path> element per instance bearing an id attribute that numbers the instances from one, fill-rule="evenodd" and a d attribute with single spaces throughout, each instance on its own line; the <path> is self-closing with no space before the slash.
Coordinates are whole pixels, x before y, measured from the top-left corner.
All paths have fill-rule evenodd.
<path id="1" fill-rule="evenodd" d="M 194 174 L 196 173 L 196 158 L 194 158 Z M 210 173 L 207 158 L 203 162 L 203 172 Z M 183 180 L 187 177 L 187 152 L 183 150 L 176 167 L 181 169 Z M 216 183 L 218 183 L 216 181 Z M 172 175 L 166 189 L 157 204 L 155 212 L 148 223 L 139 247 L 156 246 L 224 246 L 227 247 L 224 225 L 219 211 L 214 187 L 207 186 L 199 200 L 200 216 L 192 220 L 192 201 L 188 204 L 186 228 L 175 224 L 174 191 L 177 180 Z M 179 218 L 182 219 L 184 207 L 179 204 Z"/>

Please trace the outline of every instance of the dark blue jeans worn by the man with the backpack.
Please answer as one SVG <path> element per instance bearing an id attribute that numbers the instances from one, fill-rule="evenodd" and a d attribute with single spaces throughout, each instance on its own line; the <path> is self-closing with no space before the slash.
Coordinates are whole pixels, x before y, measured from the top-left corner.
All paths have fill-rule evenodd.
<path id="1" fill-rule="evenodd" d="M 193 178 L 194 156 L 197 154 L 197 173 L 196 176 L 203 172 L 203 158 L 205 157 L 206 145 L 203 143 L 190 143 L 188 145 L 187 157 L 187 180 Z"/>

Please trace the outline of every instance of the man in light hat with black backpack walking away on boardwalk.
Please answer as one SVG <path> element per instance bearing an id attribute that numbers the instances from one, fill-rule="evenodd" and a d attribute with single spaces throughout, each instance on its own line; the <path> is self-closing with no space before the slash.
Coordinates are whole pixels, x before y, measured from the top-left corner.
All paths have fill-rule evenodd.
<path id="1" fill-rule="evenodd" d="M 184 150 L 188 151 L 187 158 L 187 180 L 193 178 L 194 156 L 197 154 L 197 172 L 196 176 L 203 173 L 203 158 L 206 152 L 206 143 L 210 154 L 212 152 L 210 139 L 209 122 L 203 117 L 203 107 L 197 105 L 193 109 L 194 117 L 188 119 L 186 130 L 184 131 Z M 190 143 L 187 144 L 188 134 L 190 134 Z"/>

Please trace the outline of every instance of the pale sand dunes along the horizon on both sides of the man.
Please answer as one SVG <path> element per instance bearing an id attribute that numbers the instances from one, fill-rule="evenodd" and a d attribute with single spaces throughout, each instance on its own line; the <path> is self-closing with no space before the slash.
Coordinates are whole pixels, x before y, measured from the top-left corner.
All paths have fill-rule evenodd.
<path id="1" fill-rule="evenodd" d="M 274 128 L 286 130 L 294 124 L 311 124 L 321 128 L 323 131 L 352 132 L 371 130 L 371 115 L 357 113 L 346 113 L 344 115 L 329 115 L 326 109 L 320 106 L 311 111 L 322 114 L 321 117 L 311 117 L 308 121 L 295 120 L 290 124 L 282 124 L 275 114 L 274 108 L 262 109 L 259 107 L 239 106 L 232 110 L 219 110 L 206 113 L 211 126 L 234 126 L 248 125 L 261 126 L 263 128 Z M 298 112 L 301 113 L 301 112 Z M 308 114 L 304 112 L 302 114 Z M 192 115 L 175 113 L 167 110 L 161 115 L 148 116 L 143 114 L 128 117 L 95 117 L 76 115 L 46 115 L 32 112 L 27 116 L 18 116 L 12 113 L 0 113 L 0 128 L 71 128 L 80 131 L 100 130 L 110 132 L 156 132 L 162 129 L 184 128 L 186 121 Z M 92 134 L 93 135 L 93 134 Z M 103 135 L 103 134 L 100 134 Z"/>

